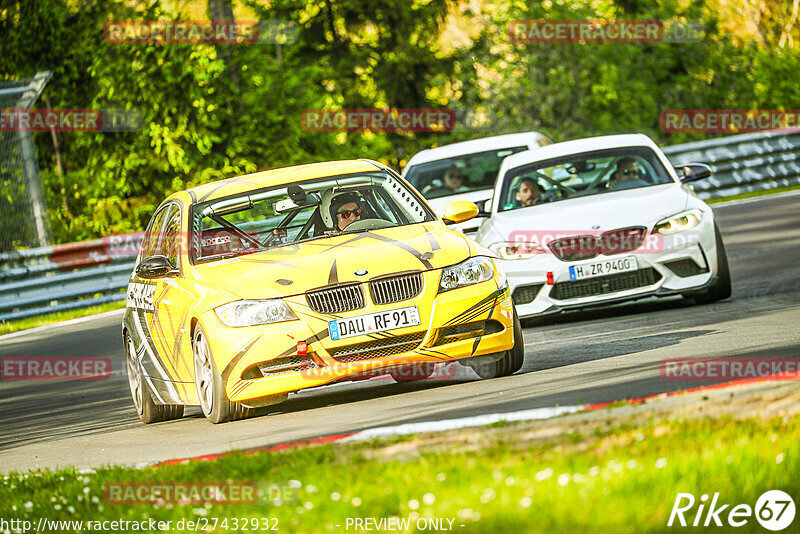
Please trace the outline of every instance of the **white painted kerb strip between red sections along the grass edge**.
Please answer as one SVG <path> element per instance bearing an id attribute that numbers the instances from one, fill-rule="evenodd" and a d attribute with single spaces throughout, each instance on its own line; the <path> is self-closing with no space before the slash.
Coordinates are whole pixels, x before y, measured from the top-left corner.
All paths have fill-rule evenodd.
<path id="1" fill-rule="evenodd" d="M 536 408 L 533 410 L 522 410 L 519 412 L 493 413 L 487 415 L 476 415 L 474 417 L 462 417 L 459 419 L 443 419 L 441 421 L 426 421 L 423 423 L 406 423 L 404 425 L 384 426 L 378 428 L 368 428 L 347 436 L 339 441 L 361 441 L 365 439 L 383 438 L 387 436 L 405 436 L 418 432 L 442 432 L 444 430 L 455 430 L 472 426 L 485 426 L 500 421 L 534 421 L 538 419 L 550 419 L 559 415 L 575 413 L 583 410 L 584 406 L 556 406 L 553 408 Z"/>

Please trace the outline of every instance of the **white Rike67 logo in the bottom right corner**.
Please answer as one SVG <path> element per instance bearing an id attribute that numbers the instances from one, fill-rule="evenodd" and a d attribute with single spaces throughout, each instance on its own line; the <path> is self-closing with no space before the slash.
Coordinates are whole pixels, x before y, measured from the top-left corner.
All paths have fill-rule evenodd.
<path id="1" fill-rule="evenodd" d="M 711 502 L 706 494 L 696 499 L 691 493 L 679 493 L 672 505 L 667 526 L 738 528 L 747 525 L 755 517 L 765 529 L 779 531 L 792 524 L 795 512 L 792 498 L 780 490 L 764 492 L 754 507 L 749 504 L 725 504 L 720 501 L 719 493 L 713 495 Z"/>

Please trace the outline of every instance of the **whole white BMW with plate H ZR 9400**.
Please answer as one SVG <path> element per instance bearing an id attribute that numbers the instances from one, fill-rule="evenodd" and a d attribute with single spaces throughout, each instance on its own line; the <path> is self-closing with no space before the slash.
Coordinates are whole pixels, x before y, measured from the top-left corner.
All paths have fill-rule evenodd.
<path id="1" fill-rule="evenodd" d="M 578 139 L 506 157 L 475 239 L 495 252 L 522 318 L 682 295 L 728 298 L 711 208 L 640 134 Z"/>

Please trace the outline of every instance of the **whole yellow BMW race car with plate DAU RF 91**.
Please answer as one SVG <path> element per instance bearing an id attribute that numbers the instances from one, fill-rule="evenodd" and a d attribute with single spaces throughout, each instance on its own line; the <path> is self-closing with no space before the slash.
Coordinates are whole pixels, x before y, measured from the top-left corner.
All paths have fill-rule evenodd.
<path id="1" fill-rule="evenodd" d="M 379 163 L 337 161 L 180 191 L 156 210 L 122 335 L 145 423 L 200 405 L 221 423 L 290 392 L 439 362 L 482 378 L 522 367 L 519 319 L 493 253 L 438 219 Z"/>

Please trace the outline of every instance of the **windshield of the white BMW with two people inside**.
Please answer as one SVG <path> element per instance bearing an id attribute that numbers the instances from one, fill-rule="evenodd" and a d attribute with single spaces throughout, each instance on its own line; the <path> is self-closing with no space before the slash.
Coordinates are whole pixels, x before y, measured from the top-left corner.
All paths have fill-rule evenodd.
<path id="1" fill-rule="evenodd" d="M 647 147 L 573 154 L 507 172 L 500 211 L 672 182 L 656 153 Z"/>

